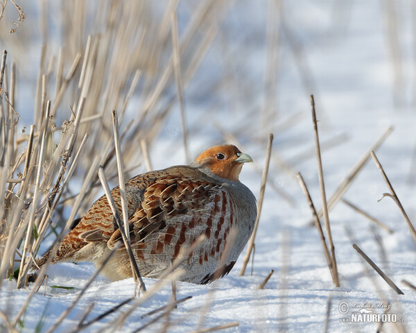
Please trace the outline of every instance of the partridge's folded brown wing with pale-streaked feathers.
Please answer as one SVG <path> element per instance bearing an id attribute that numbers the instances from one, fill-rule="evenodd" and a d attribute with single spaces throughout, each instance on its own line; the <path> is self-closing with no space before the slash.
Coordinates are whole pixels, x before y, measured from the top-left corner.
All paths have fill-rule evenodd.
<path id="1" fill-rule="evenodd" d="M 151 234 L 166 232 L 178 216 L 191 221 L 201 214 L 214 212 L 212 207 L 219 188 L 216 182 L 177 175 L 157 178 L 144 189 L 141 205 L 130 216 L 132 244 L 146 243 Z M 107 245 L 113 248 L 117 241 L 121 241 L 119 229 L 114 231 Z"/>

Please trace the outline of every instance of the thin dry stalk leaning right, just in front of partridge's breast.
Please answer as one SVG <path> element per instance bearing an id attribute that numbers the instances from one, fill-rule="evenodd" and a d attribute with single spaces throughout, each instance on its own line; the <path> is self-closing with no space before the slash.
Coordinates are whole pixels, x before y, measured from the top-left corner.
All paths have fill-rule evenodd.
<path id="1" fill-rule="evenodd" d="M 243 260 L 243 266 L 241 267 L 241 270 L 240 270 L 240 276 L 244 275 L 245 268 L 247 267 L 247 264 L 250 261 L 250 255 L 252 253 L 253 246 L 254 246 L 254 239 L 256 239 L 257 228 L 259 228 L 261 207 L 263 206 L 264 191 L 266 190 L 267 174 L 268 174 L 268 168 L 270 164 L 270 155 L 272 153 L 272 142 L 273 142 L 273 135 L 270 133 L 268 136 L 268 144 L 267 144 L 267 150 L 266 150 L 266 159 L 264 160 L 263 175 L 261 176 L 259 201 L 257 201 L 256 222 L 254 223 L 254 230 L 250 237 L 250 241 L 248 242 L 248 248 L 247 248 L 247 252 L 245 253 L 244 260 Z"/>

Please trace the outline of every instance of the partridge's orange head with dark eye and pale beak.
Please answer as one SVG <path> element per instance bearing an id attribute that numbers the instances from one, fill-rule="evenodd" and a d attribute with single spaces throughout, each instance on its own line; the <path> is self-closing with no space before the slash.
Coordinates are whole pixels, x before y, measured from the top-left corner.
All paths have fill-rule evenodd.
<path id="1" fill-rule="evenodd" d="M 204 151 L 191 165 L 207 168 L 220 178 L 238 182 L 245 162 L 253 162 L 253 160 L 249 155 L 241 153 L 236 146 L 223 144 Z"/>

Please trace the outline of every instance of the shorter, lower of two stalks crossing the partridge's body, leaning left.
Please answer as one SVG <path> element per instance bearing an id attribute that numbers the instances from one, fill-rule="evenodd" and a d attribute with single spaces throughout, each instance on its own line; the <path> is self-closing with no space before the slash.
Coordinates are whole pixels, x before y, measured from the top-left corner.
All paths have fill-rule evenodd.
<path id="1" fill-rule="evenodd" d="M 139 287 L 141 291 L 146 292 L 146 286 L 143 282 L 143 279 L 141 278 L 139 267 L 137 266 L 137 261 L 132 250 L 132 246 L 127 236 L 125 235 L 123 224 L 121 223 L 119 211 L 116 208 L 116 204 L 114 203 L 114 199 L 112 198 L 110 187 L 108 186 L 107 178 L 105 177 L 104 169 L 101 166 L 98 167 L 98 178 L 100 178 L 101 185 L 103 185 L 105 196 L 107 196 L 108 205 L 110 205 L 111 207 L 112 213 L 114 215 L 114 220 L 116 220 L 117 226 L 119 227 L 119 230 L 121 233 L 121 237 L 123 238 L 125 250 L 127 251 L 128 257 L 130 259 L 130 265 L 132 266 L 132 271 L 134 271 L 133 278 L 135 278 L 135 282 L 139 281 Z"/>

